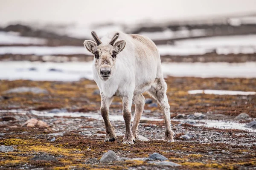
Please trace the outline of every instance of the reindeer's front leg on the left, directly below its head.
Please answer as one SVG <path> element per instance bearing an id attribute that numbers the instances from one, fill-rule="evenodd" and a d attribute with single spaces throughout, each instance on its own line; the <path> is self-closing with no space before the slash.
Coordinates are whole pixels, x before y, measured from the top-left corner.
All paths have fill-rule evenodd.
<path id="1" fill-rule="evenodd" d="M 102 118 L 105 122 L 105 127 L 106 127 L 106 138 L 105 142 L 114 142 L 116 140 L 116 133 L 115 133 L 115 128 L 111 125 L 108 117 L 109 113 L 109 106 L 112 102 L 112 97 L 106 97 L 103 94 L 101 94 L 101 107 L 100 111 L 102 114 Z"/>

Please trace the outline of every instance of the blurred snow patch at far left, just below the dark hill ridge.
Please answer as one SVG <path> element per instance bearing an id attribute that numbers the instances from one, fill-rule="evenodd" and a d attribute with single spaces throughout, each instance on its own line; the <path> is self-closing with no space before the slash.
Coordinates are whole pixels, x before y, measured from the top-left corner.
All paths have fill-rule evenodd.
<path id="1" fill-rule="evenodd" d="M 46 44 L 47 40 L 43 38 L 34 37 L 21 37 L 19 34 L 14 32 L 3 32 L 0 31 L 0 44 Z"/>

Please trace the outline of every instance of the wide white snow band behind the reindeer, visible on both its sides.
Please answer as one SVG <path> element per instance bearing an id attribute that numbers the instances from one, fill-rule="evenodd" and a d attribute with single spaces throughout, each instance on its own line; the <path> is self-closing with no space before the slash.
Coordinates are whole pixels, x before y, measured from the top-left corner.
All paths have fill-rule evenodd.
<path id="1" fill-rule="evenodd" d="M 0 62 L 0 79 L 35 81 L 79 81 L 93 79 L 93 62 Z M 164 76 L 256 78 L 256 62 L 162 63 Z"/>

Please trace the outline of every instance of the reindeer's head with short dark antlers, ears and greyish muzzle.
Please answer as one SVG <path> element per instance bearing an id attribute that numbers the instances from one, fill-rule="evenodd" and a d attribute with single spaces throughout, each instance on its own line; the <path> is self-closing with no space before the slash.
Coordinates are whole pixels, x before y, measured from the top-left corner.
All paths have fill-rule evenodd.
<path id="1" fill-rule="evenodd" d="M 108 43 L 102 43 L 94 31 L 91 34 L 95 42 L 85 40 L 84 47 L 94 55 L 98 76 L 102 80 L 107 80 L 115 71 L 116 55 L 125 48 L 125 41 L 120 40 L 115 43 L 119 33 L 116 33 Z"/>

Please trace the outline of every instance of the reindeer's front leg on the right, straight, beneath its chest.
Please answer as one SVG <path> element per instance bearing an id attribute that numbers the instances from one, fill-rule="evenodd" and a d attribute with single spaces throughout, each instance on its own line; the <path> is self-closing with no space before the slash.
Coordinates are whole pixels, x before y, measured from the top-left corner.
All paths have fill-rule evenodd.
<path id="1" fill-rule="evenodd" d="M 134 136 L 131 132 L 131 104 L 133 95 L 122 97 L 123 117 L 125 120 L 125 136 L 123 144 L 134 144 Z"/>

